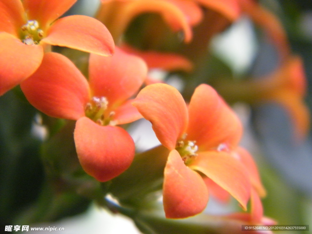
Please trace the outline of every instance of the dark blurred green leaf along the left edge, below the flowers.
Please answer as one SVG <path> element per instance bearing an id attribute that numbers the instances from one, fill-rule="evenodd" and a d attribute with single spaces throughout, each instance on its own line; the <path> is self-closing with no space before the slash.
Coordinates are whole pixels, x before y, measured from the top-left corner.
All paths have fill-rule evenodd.
<path id="1" fill-rule="evenodd" d="M 41 141 L 32 134 L 31 105 L 12 92 L 0 97 L 0 220 L 9 222 L 41 190 L 44 173 L 39 157 Z"/>

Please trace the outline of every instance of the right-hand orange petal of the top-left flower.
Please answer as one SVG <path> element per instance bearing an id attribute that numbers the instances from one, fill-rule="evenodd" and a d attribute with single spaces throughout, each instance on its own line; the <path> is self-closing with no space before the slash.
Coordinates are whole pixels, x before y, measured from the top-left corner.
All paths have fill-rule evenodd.
<path id="1" fill-rule="evenodd" d="M 57 20 L 41 41 L 54 46 L 109 56 L 114 53 L 114 41 L 100 21 L 82 15 L 72 15 Z"/>

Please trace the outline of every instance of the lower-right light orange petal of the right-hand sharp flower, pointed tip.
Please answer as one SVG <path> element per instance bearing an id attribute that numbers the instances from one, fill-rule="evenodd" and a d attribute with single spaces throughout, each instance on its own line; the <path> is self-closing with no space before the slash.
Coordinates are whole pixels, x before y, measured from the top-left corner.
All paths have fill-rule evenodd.
<path id="1" fill-rule="evenodd" d="M 204 173 L 228 191 L 246 210 L 251 184 L 248 172 L 238 160 L 226 152 L 206 151 L 194 157 L 188 167 Z"/>

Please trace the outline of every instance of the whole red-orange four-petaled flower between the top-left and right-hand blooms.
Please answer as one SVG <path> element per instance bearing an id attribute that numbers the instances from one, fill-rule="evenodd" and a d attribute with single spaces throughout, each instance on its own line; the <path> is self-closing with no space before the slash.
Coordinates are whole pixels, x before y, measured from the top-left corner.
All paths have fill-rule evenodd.
<path id="1" fill-rule="evenodd" d="M 45 114 L 77 120 L 74 140 L 80 164 L 105 182 L 124 172 L 134 158 L 133 139 L 115 125 L 142 117 L 128 99 L 139 90 L 146 73 L 140 58 L 116 48 L 110 57 L 90 55 L 88 82 L 69 59 L 49 52 L 21 88 Z"/>

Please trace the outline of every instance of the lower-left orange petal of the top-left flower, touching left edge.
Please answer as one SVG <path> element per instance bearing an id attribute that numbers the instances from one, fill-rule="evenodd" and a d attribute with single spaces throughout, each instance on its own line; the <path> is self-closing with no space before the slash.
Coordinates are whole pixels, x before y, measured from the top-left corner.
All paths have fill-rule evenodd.
<path id="1" fill-rule="evenodd" d="M 6 32 L 0 33 L 0 44 L 0 95 L 3 95 L 37 70 L 43 49 L 26 45 Z"/>

